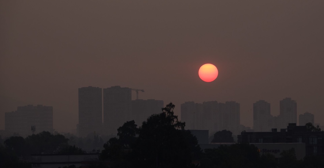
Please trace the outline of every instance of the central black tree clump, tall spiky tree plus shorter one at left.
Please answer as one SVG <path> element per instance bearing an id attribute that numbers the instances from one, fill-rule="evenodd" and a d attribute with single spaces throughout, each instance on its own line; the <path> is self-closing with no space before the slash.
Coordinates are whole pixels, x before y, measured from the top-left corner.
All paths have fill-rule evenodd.
<path id="1" fill-rule="evenodd" d="M 200 156 L 197 139 L 184 130 L 185 123 L 174 115 L 172 103 L 162 113 L 151 115 L 140 128 L 134 121 L 118 129 L 118 139 L 104 144 L 101 160 L 111 167 L 187 167 Z"/>

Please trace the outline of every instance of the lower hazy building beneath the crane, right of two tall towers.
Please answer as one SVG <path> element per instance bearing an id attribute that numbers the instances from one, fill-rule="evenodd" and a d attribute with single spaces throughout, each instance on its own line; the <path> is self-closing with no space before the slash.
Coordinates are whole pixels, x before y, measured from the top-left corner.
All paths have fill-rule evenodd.
<path id="1" fill-rule="evenodd" d="M 132 100 L 132 118 L 137 126 L 141 126 L 143 121 L 152 114 L 162 113 L 163 100 Z"/>

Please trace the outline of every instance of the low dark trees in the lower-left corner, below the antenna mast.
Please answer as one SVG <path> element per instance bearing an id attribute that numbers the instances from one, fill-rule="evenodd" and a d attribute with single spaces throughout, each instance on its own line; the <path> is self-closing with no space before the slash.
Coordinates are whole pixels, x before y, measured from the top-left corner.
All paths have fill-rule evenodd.
<path id="1" fill-rule="evenodd" d="M 31 154 L 80 154 L 81 148 L 68 144 L 64 135 L 41 132 L 26 138 L 13 136 L 6 140 L 0 138 L 0 167 L 31 167 L 28 158 Z M 19 159 L 22 158 L 22 159 Z M 27 162 L 23 161 L 27 159 Z"/>

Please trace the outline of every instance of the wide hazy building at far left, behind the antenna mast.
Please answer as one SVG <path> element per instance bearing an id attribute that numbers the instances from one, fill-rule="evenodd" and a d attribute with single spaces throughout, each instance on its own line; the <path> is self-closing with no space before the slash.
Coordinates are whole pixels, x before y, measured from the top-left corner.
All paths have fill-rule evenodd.
<path id="1" fill-rule="evenodd" d="M 53 107 L 43 105 L 18 106 L 17 111 L 5 113 L 5 130 L 26 137 L 42 131 L 53 132 Z"/>

